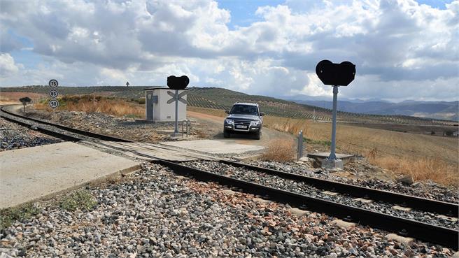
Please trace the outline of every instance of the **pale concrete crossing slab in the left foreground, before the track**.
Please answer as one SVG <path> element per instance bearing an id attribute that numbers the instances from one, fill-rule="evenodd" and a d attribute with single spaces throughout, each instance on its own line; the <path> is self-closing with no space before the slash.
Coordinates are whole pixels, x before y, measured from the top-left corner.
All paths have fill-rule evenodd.
<path id="1" fill-rule="evenodd" d="M 0 208 L 137 169 L 139 162 L 71 142 L 0 152 Z"/>

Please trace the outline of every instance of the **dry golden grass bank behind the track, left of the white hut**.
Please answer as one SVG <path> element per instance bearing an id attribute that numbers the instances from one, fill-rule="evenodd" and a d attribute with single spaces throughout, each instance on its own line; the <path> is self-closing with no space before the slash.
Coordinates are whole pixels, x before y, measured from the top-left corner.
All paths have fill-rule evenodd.
<path id="1" fill-rule="evenodd" d="M 128 102 L 125 99 L 112 99 L 95 95 L 71 95 L 59 99 L 59 110 L 83 111 L 86 113 L 106 113 L 109 115 L 145 117 L 145 106 L 139 103 Z M 48 103 L 36 105 L 38 109 L 49 109 Z"/>

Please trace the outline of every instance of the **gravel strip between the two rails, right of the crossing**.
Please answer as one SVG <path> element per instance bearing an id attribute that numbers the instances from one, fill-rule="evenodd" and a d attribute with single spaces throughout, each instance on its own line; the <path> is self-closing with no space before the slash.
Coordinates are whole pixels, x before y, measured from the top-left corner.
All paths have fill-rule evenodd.
<path id="1" fill-rule="evenodd" d="M 392 207 L 395 205 L 393 203 L 385 203 L 382 201 L 374 201 L 372 203 L 362 203 L 360 201 L 355 201 L 355 197 L 349 196 L 348 194 L 337 194 L 330 195 L 325 194 L 324 190 L 318 189 L 311 185 L 308 185 L 304 182 L 299 182 L 296 180 L 290 180 L 278 177 L 276 175 L 269 175 L 267 173 L 261 173 L 257 171 L 252 171 L 249 169 L 236 168 L 227 164 L 222 164 L 220 162 L 208 162 L 208 161 L 199 161 L 199 162 L 185 162 L 186 166 L 192 166 L 197 169 L 202 169 L 204 171 L 209 171 L 212 173 L 218 173 L 220 175 L 226 175 L 232 178 L 245 180 L 248 182 L 254 182 L 260 185 L 273 187 L 276 189 L 282 189 L 289 192 L 295 192 L 297 194 L 303 194 L 306 196 L 311 196 L 313 198 L 324 199 L 327 201 L 334 201 L 337 203 L 346 204 L 349 206 L 354 206 L 358 208 L 365 208 L 366 210 L 374 210 L 380 213 L 386 213 L 388 215 L 393 215 L 397 217 L 404 217 L 409 220 L 417 220 L 420 222 L 425 222 L 428 224 L 435 224 L 442 227 L 448 227 L 451 229 L 458 229 L 458 222 L 453 222 L 446 220 L 442 217 L 437 217 L 434 213 L 428 213 L 421 210 L 411 210 L 409 212 L 402 210 L 395 210 Z"/>

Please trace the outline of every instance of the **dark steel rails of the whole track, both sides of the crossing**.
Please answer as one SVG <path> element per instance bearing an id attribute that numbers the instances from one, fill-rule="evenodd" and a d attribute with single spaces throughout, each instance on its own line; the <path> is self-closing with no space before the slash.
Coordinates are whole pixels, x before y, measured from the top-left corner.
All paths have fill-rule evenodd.
<path id="1" fill-rule="evenodd" d="M 50 134 L 52 136 L 63 138 L 68 141 L 97 141 L 99 144 L 102 141 L 118 141 L 118 142 L 131 142 L 122 138 L 116 138 L 112 136 L 104 136 L 102 134 L 95 134 L 88 131 L 82 131 L 79 129 L 73 129 L 65 127 L 61 124 L 53 124 L 42 120 L 37 120 L 31 117 L 24 117 L 5 110 L 4 107 L 0 109 L 0 116 L 11 122 L 22 124 L 26 127 L 34 127 L 38 131 L 44 134 Z M 135 150 L 129 150 L 129 148 L 122 148 L 120 146 L 114 147 L 105 144 L 108 148 L 118 150 L 120 152 L 129 151 L 134 152 Z M 227 185 L 229 187 L 236 187 L 241 189 L 243 192 L 250 194 L 264 196 L 264 198 L 279 203 L 288 203 L 290 206 L 297 208 L 315 210 L 320 213 L 327 213 L 334 217 L 339 217 L 348 222 L 356 222 L 359 224 L 365 224 L 370 227 L 383 229 L 391 232 L 395 232 L 402 236 L 411 236 L 414 238 L 428 241 L 431 243 L 437 243 L 444 245 L 454 250 L 459 248 L 459 231 L 448 227 L 443 227 L 438 224 L 431 224 L 421 222 L 418 220 L 407 219 L 405 217 L 397 217 L 386 213 L 381 213 L 375 210 L 368 210 L 348 204 L 339 203 L 337 201 L 331 201 L 327 199 L 316 198 L 300 194 L 298 192 L 292 192 L 288 189 L 278 189 L 272 185 L 262 185 L 248 180 L 241 180 L 239 178 L 222 175 L 219 173 L 212 173 L 210 171 L 204 171 L 195 167 L 185 166 L 176 162 L 170 162 L 165 159 L 158 159 L 144 153 L 136 153 L 141 157 L 147 157 L 153 159 L 155 163 L 162 164 L 163 166 L 169 167 L 174 173 L 179 175 L 186 175 L 197 180 L 203 181 L 215 181 L 220 185 Z M 265 169 L 258 166 L 250 166 L 247 164 L 241 164 L 239 162 L 233 162 L 229 160 L 220 160 L 222 164 L 226 164 L 238 169 L 246 169 L 248 171 L 256 171 L 265 173 L 267 175 L 276 176 L 285 180 L 293 180 L 295 182 L 302 182 L 311 187 L 323 189 L 332 192 L 338 192 L 341 194 L 347 194 L 348 196 L 355 196 L 365 199 L 372 199 L 374 201 L 383 201 L 386 203 L 394 203 L 400 206 L 413 208 L 415 210 L 421 210 L 428 213 L 439 213 L 450 217 L 458 217 L 459 206 L 455 203 L 447 203 L 444 201 L 435 201 L 430 199 L 423 199 L 416 196 L 409 196 L 405 194 L 398 194 L 394 192 L 382 191 L 378 189 L 370 189 L 367 187 L 359 187 L 355 185 L 347 185 L 340 182 L 333 182 L 330 180 L 323 180 L 318 178 L 306 177 L 304 175 L 297 175 L 293 173 L 286 173 L 283 171 L 276 171 L 274 169 Z"/>

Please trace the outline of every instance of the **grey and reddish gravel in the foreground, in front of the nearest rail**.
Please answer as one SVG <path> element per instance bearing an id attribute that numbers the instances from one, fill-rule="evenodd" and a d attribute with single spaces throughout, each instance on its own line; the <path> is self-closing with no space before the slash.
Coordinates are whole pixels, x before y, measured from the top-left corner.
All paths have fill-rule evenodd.
<path id="1" fill-rule="evenodd" d="M 89 212 L 52 201 L 1 231 L 0 253 L 27 257 L 448 257 L 452 250 L 388 232 L 332 226 L 334 217 L 260 203 L 250 194 L 176 176 L 163 166 L 89 187 Z"/>

